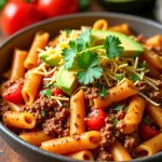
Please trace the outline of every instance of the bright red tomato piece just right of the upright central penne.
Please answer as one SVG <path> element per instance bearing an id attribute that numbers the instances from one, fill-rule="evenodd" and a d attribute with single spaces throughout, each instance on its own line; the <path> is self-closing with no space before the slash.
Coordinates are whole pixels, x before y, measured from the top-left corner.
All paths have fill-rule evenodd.
<path id="1" fill-rule="evenodd" d="M 86 119 L 86 125 L 90 130 L 99 131 L 105 125 L 107 114 L 103 109 L 96 109 L 90 112 Z"/>

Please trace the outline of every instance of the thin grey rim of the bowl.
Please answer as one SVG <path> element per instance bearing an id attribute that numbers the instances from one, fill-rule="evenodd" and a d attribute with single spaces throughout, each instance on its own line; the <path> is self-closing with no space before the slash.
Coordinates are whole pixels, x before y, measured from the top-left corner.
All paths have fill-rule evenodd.
<path id="1" fill-rule="evenodd" d="M 126 19 L 134 19 L 137 23 L 146 23 L 150 26 L 153 27 L 158 27 L 160 29 L 162 29 L 162 25 L 160 23 L 157 23 L 154 21 L 148 19 L 148 18 L 144 18 L 144 17 L 139 17 L 139 16 L 135 16 L 135 15 L 131 15 L 131 14 L 124 14 L 124 13 L 117 13 L 117 12 L 84 12 L 84 13 L 76 13 L 76 14 L 67 14 L 67 15 L 63 15 L 63 16 L 57 16 L 57 17 L 52 17 L 49 19 L 44 19 L 41 21 L 39 23 L 32 24 L 30 26 L 25 27 L 24 29 L 15 32 L 14 35 L 10 36 L 9 38 L 6 38 L 2 43 L 0 43 L 0 50 L 2 48 L 4 48 L 8 43 L 10 43 L 10 41 L 12 41 L 14 38 L 23 35 L 24 32 L 29 31 L 30 29 L 35 29 L 39 26 L 42 26 L 44 24 L 50 24 L 52 22 L 58 22 L 58 21 L 65 21 L 65 19 L 71 19 L 71 18 L 77 18 L 77 17 L 98 17 L 102 16 L 107 17 L 116 17 L 116 18 L 126 18 Z M 29 143 L 26 143 L 25 140 L 21 139 L 15 133 L 13 133 L 12 131 L 10 131 L 1 121 L 0 121 L 0 131 L 2 131 L 4 134 L 6 134 L 8 136 L 10 136 L 12 138 L 12 140 L 18 143 L 18 145 L 24 146 L 27 149 L 31 149 L 33 151 L 36 151 L 37 153 L 41 153 L 45 157 L 50 157 L 56 160 L 60 160 L 60 161 L 68 161 L 68 162 L 76 162 L 76 160 L 72 160 L 68 157 L 65 156 L 60 156 L 60 154 L 56 154 L 56 153 L 50 153 L 45 150 L 42 150 Z M 154 158 L 158 158 L 159 156 L 161 156 L 162 158 L 162 152 L 156 153 L 153 156 L 150 157 L 144 157 L 140 159 L 133 159 L 132 162 L 137 162 L 138 160 L 140 161 L 146 161 L 147 159 L 149 160 L 153 160 Z"/>

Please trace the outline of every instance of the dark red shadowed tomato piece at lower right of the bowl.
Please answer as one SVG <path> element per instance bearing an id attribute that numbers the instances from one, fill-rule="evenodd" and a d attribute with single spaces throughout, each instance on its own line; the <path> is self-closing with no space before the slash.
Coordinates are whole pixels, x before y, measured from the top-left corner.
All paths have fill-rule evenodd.
<path id="1" fill-rule="evenodd" d="M 140 130 L 139 130 L 140 137 L 145 140 L 152 138 L 153 136 L 159 134 L 159 131 L 156 129 L 152 129 L 151 126 L 141 123 Z"/>

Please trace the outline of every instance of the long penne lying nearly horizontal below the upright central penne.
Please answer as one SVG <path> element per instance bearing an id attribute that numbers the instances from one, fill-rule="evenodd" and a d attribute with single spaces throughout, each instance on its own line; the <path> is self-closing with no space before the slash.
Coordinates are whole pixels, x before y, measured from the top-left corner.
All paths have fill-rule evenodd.
<path id="1" fill-rule="evenodd" d="M 90 131 L 81 135 L 44 141 L 41 144 L 41 148 L 49 152 L 65 154 L 75 151 L 97 148 L 99 140 L 100 133 L 97 131 Z"/>

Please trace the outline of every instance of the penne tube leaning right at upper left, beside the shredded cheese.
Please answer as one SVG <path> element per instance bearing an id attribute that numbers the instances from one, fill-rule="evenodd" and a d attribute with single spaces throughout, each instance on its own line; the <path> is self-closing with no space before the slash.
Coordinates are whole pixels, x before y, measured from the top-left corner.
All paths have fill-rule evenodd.
<path id="1" fill-rule="evenodd" d="M 49 37 L 48 32 L 39 31 L 36 33 L 28 56 L 24 63 L 26 69 L 32 69 L 38 66 L 38 49 L 43 49 L 48 44 Z"/>

